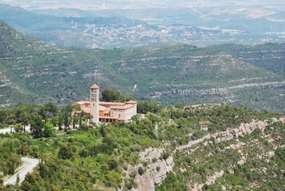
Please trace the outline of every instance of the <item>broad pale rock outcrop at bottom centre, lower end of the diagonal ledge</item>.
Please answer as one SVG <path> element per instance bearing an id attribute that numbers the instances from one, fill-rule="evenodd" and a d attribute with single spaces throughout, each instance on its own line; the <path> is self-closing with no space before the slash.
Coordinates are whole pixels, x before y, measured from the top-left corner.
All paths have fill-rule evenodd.
<path id="1" fill-rule="evenodd" d="M 155 185 L 159 185 L 167 175 L 167 172 L 172 171 L 174 167 L 173 157 L 170 155 L 166 160 L 160 159 L 162 148 L 147 148 L 145 151 L 140 152 L 140 160 L 146 163 L 147 166 L 143 167 L 141 164 L 132 167 L 132 170 L 137 170 L 139 167 L 143 167 L 145 172 L 143 175 L 136 175 L 135 182 L 138 184 L 137 189 L 140 191 L 155 190 Z"/>

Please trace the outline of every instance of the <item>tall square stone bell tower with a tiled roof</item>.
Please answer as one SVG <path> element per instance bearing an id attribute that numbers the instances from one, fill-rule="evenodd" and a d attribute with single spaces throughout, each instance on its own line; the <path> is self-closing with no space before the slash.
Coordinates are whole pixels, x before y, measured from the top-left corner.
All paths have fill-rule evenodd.
<path id="1" fill-rule="evenodd" d="M 99 86 L 96 84 L 90 88 L 90 115 L 93 115 L 93 123 L 99 123 Z"/>

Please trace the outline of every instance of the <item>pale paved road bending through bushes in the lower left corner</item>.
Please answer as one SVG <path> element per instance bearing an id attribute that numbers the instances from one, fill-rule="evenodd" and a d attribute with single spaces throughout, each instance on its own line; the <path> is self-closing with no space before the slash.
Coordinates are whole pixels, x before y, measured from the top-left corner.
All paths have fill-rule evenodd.
<path id="1" fill-rule="evenodd" d="M 21 158 L 21 160 L 26 163 L 26 166 L 22 168 L 19 172 L 16 172 L 16 174 L 14 174 L 8 180 L 4 181 L 3 185 L 15 185 L 18 173 L 20 177 L 20 182 L 23 182 L 26 174 L 28 174 L 28 172 L 32 172 L 33 168 L 36 167 L 36 165 L 38 165 L 38 163 L 40 162 L 40 160 L 35 158 Z"/>

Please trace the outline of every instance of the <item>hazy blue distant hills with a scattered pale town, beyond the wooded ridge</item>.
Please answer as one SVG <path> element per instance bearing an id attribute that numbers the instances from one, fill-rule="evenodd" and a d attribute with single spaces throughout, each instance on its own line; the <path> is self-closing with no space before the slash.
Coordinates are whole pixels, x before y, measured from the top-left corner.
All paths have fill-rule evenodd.
<path id="1" fill-rule="evenodd" d="M 283 15 L 276 7 L 83 11 L 0 4 L 0 19 L 21 33 L 57 46 L 85 48 L 283 42 Z"/>

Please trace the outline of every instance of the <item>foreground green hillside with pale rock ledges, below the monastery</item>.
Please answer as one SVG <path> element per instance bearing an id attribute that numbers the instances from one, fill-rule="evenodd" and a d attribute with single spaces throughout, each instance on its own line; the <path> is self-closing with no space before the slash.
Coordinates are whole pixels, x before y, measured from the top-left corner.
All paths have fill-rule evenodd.
<path id="1" fill-rule="evenodd" d="M 53 128 L 65 110 L 17 105 L 31 124 Z M 49 115 L 47 115 L 49 113 Z M 22 115 L 21 115 L 22 116 Z M 284 113 L 229 105 L 160 106 L 132 123 L 51 133 L 0 134 L 0 180 L 14 173 L 19 154 L 41 158 L 21 186 L 1 190 L 283 190 Z M 19 118 L 16 118 L 19 120 Z M 1 119 L 0 119 L 1 120 Z M 25 118 L 21 118 L 25 120 Z M 27 119 L 26 119 L 27 120 Z M 69 121 L 74 120 L 69 117 Z M 44 125 L 43 133 L 46 132 Z M 57 125 L 57 123 L 55 123 Z M 76 120 L 78 125 L 78 120 Z M 74 127 L 73 127 L 74 128 Z M 38 129 L 38 126 L 37 128 Z M 33 135 L 33 136 L 31 136 Z M 10 155 L 9 155 L 10 154 Z M 11 162 L 10 162 L 11 161 Z M 8 165 L 7 165 L 8 164 Z M 8 166 L 8 167 L 7 167 Z"/>

